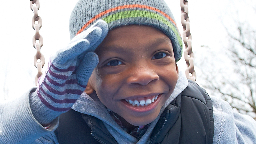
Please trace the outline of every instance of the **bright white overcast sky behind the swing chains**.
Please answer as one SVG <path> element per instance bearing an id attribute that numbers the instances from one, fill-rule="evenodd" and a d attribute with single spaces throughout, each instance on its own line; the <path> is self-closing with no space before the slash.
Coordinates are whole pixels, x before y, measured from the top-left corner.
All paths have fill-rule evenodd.
<path id="1" fill-rule="evenodd" d="M 39 16 L 43 25 L 40 34 L 43 36 L 42 53 L 46 65 L 50 54 L 64 47 L 69 42 L 69 16 L 78 0 L 40 0 Z M 179 31 L 182 32 L 180 20 L 181 8 L 179 0 L 165 0 L 172 10 Z M 236 0 L 240 2 L 241 0 Z M 254 3 L 253 0 L 246 0 Z M 189 0 L 189 17 L 193 38 L 194 53 L 203 51 L 201 45 L 211 48 L 223 48 L 226 39 L 225 29 L 220 19 L 225 18 L 224 24 L 232 25 L 227 15 L 235 14 L 236 9 L 243 12 L 238 15 L 242 19 L 250 19 L 251 11 L 239 3 L 230 5 L 231 0 Z M 228 11 L 228 12 L 226 12 Z M 15 98 L 34 86 L 37 69 L 33 66 L 36 53 L 32 46 L 34 30 L 32 28 L 33 12 L 30 10 L 29 0 L 2 1 L 0 5 L 0 100 Z M 252 19 L 252 18 L 251 18 Z M 218 49 L 219 48 L 219 49 Z M 200 59 L 200 55 L 195 55 Z M 179 65 L 185 69 L 184 60 Z M 46 67 L 46 66 L 45 66 Z M 45 68 L 44 67 L 44 68 Z M 43 69 L 43 72 L 45 69 Z M 4 92 L 3 90 L 6 90 Z M 7 98 L 7 97 L 6 97 Z"/>

